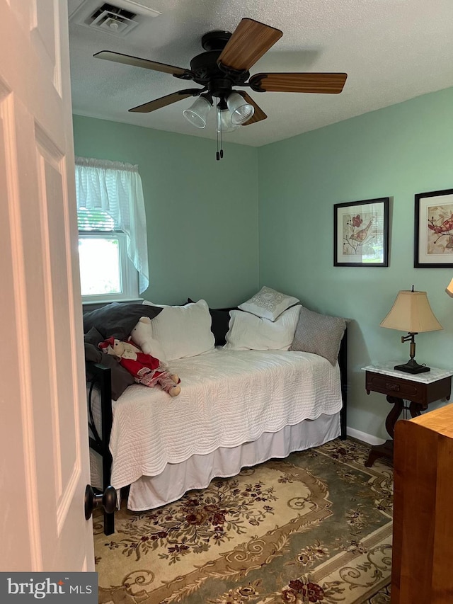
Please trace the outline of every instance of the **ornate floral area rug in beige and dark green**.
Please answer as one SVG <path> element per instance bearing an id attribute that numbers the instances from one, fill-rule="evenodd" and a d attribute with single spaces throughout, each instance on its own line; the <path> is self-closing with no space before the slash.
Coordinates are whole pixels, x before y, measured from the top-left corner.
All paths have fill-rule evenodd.
<path id="1" fill-rule="evenodd" d="M 393 472 L 334 440 L 214 479 L 176 503 L 95 518 L 99 603 L 390 602 Z"/>

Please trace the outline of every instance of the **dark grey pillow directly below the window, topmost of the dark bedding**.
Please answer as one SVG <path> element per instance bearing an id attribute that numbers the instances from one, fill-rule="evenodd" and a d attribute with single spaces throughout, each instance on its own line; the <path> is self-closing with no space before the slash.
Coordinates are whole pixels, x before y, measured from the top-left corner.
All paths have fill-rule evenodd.
<path id="1" fill-rule="evenodd" d="M 140 317 L 153 319 L 162 309 L 142 304 L 112 302 L 91 312 L 84 313 L 84 333 L 96 327 L 103 340 L 117 338 L 127 340 Z"/>

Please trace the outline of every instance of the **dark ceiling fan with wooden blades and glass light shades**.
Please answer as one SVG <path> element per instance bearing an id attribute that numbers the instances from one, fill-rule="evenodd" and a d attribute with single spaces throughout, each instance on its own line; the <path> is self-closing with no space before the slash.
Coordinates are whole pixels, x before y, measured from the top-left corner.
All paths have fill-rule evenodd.
<path id="1" fill-rule="evenodd" d="M 250 76 L 249 69 L 282 37 L 282 31 L 250 18 L 241 19 L 233 33 L 210 31 L 202 36 L 205 52 L 193 57 L 190 69 L 140 59 L 120 52 L 103 50 L 94 57 L 117 63 L 153 69 L 178 79 L 192 80 L 202 88 L 179 90 L 130 109 L 149 113 L 190 96 L 199 97 L 183 111 L 193 125 L 203 128 L 207 113 L 217 98 L 217 132 L 247 126 L 268 116 L 246 91 L 234 86 L 248 86 L 255 92 L 306 92 L 338 94 L 343 90 L 347 74 L 343 73 L 261 73 Z M 223 152 L 220 154 L 223 155 Z M 217 151 L 219 159 L 219 151 Z"/>

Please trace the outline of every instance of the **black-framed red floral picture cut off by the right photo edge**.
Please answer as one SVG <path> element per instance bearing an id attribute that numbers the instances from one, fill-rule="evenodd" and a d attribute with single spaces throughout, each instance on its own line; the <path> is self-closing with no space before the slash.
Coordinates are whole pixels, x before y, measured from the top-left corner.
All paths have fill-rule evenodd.
<path id="1" fill-rule="evenodd" d="M 415 195 L 413 266 L 453 267 L 453 189 Z"/>

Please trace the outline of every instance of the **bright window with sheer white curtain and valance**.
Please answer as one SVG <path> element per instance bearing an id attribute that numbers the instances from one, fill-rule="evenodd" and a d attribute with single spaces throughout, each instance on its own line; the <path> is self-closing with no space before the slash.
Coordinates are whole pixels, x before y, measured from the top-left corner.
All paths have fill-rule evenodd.
<path id="1" fill-rule="evenodd" d="M 136 298 L 149 284 L 137 166 L 76 158 L 76 194 L 84 302 Z"/>

